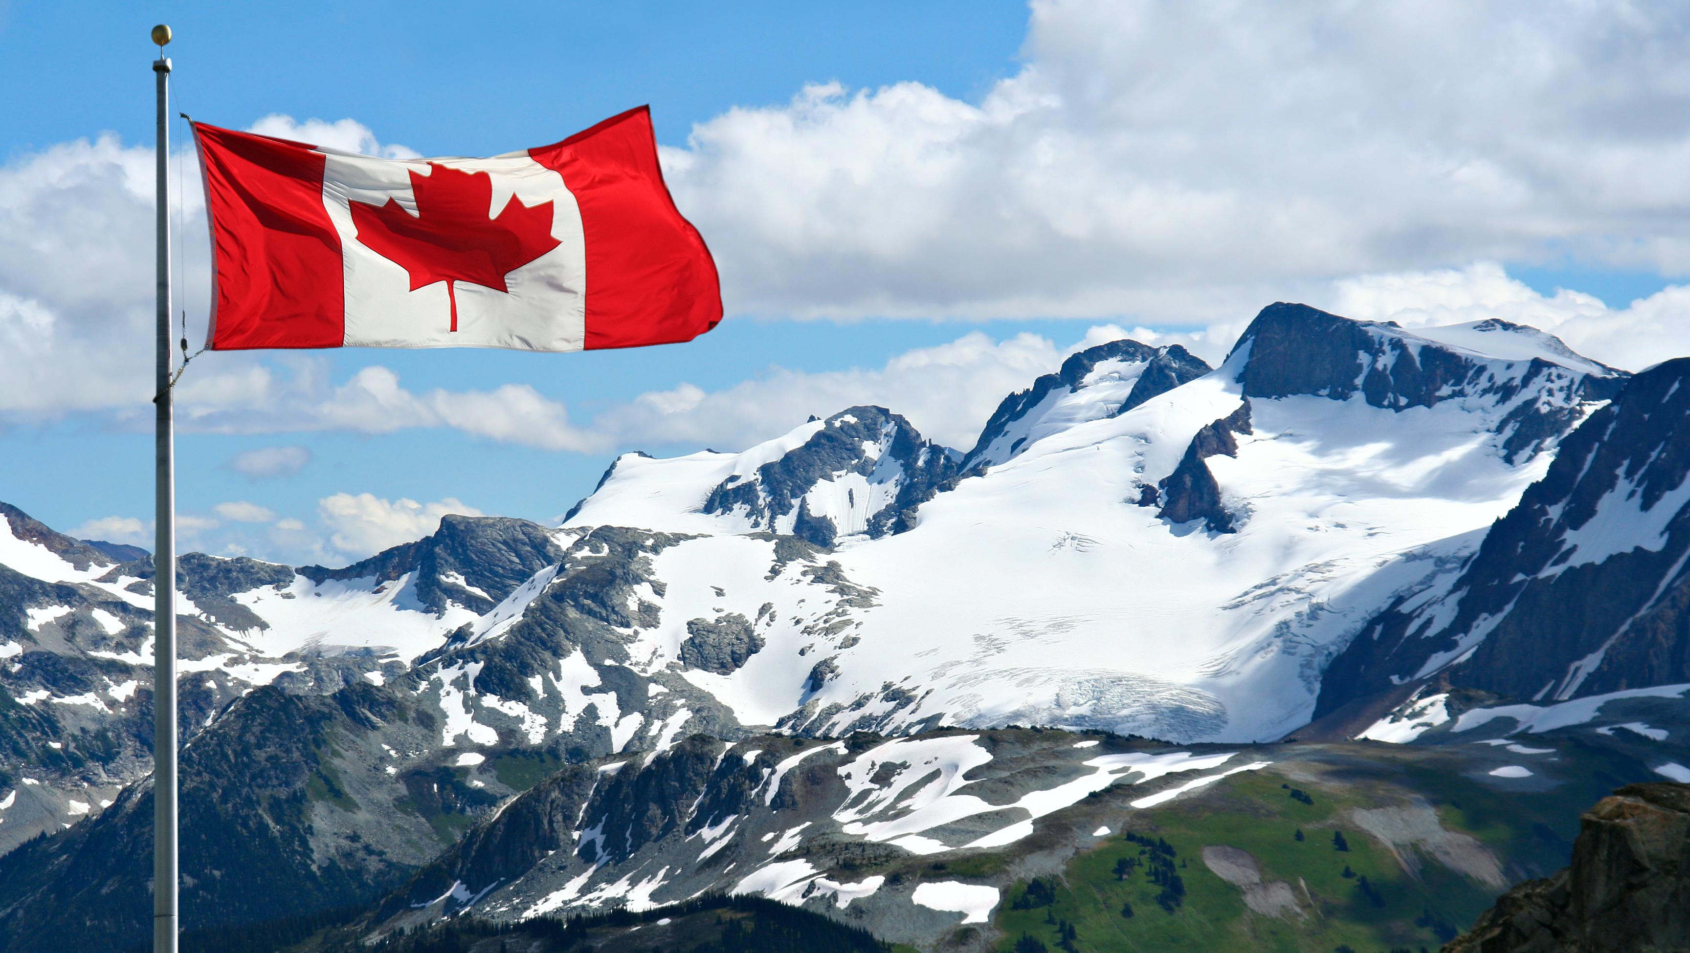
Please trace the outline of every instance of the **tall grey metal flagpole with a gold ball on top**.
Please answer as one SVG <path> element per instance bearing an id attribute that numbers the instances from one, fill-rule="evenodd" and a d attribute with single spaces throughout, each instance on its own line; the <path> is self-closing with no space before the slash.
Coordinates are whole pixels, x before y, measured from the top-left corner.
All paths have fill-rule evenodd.
<path id="1" fill-rule="evenodd" d="M 154 397 L 157 536 L 152 549 L 152 950 L 176 953 L 176 453 L 171 439 L 171 189 L 166 174 L 171 155 L 171 61 L 164 56 L 171 27 L 152 27 L 152 42 L 159 44 L 159 59 L 152 61 L 159 86 L 159 130 L 154 140 L 159 172 L 154 186 L 159 329 Z"/>

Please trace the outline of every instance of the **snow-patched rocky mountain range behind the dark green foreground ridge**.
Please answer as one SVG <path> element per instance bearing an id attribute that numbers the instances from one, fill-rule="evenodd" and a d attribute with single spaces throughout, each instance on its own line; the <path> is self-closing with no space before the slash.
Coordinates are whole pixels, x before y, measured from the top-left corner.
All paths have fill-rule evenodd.
<path id="1" fill-rule="evenodd" d="M 184 816 L 204 852 L 186 909 L 262 921 L 411 875 L 406 902 L 439 887 L 507 916 L 744 887 L 784 863 L 742 853 L 749 833 L 722 853 L 730 879 L 603 879 L 674 860 L 671 835 L 715 843 L 749 801 L 777 809 L 813 754 L 857 771 L 862 733 L 1060 727 L 1191 759 L 1289 735 L 1430 743 L 1474 708 L 1690 683 L 1687 378 L 1690 360 L 1631 375 L 1502 321 L 1274 304 L 1218 368 L 1137 341 L 1075 353 L 968 451 L 850 407 L 742 453 L 625 455 L 561 526 L 444 517 L 340 569 L 184 554 Z M 100 906 L 90 943 L 144 916 L 150 580 L 144 553 L 0 504 L 0 934 L 68 929 L 44 912 L 64 904 Z M 776 759 L 776 735 L 818 742 Z M 953 764 L 938 782 L 960 784 L 972 755 L 933 743 Z M 635 752 L 637 771 L 607 760 Z M 877 781 L 847 777 L 830 836 L 874 857 L 972 843 L 838 820 L 909 809 L 860 771 Z M 617 809 L 644 814 L 581 826 L 622 779 L 646 787 Z M 549 806 L 512 808 L 537 791 Z M 784 896 L 769 879 L 757 892 Z M 806 896 L 847 909 L 828 884 Z"/>

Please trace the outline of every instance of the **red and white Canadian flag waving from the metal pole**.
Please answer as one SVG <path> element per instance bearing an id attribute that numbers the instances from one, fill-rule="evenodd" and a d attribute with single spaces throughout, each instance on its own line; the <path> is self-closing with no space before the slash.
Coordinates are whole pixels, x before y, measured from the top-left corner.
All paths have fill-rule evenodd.
<path id="1" fill-rule="evenodd" d="M 194 123 L 211 350 L 690 341 L 717 267 L 674 208 L 646 106 L 556 145 L 395 161 Z"/>

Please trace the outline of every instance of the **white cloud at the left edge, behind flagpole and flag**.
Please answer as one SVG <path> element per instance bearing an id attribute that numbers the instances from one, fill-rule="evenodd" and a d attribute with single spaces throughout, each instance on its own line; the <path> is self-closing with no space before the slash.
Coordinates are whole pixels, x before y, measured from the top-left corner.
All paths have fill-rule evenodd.
<path id="1" fill-rule="evenodd" d="M 260 120 L 265 132 L 335 147 L 409 155 L 340 120 Z M 179 235 L 176 304 L 188 338 L 204 338 L 210 264 L 204 203 L 191 150 L 172 155 Z M 179 186 L 179 188 L 177 188 Z M 154 150 L 115 135 L 25 152 L 0 166 L 0 419 L 39 421 L 78 411 L 150 419 L 154 394 Z M 257 355 L 218 355 L 194 367 L 201 395 L 250 394 L 265 373 Z"/>

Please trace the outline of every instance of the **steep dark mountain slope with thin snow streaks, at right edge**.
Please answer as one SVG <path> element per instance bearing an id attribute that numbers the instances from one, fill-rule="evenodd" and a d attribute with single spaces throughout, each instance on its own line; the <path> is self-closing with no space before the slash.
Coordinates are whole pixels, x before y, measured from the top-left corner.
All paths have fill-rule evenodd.
<path id="1" fill-rule="evenodd" d="M 1393 684 L 1529 698 L 1690 681 L 1690 360 L 1638 373 L 1562 441 L 1477 554 L 1379 613 L 1327 713 Z"/>

